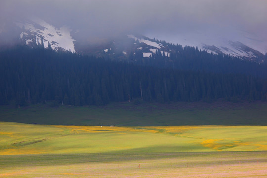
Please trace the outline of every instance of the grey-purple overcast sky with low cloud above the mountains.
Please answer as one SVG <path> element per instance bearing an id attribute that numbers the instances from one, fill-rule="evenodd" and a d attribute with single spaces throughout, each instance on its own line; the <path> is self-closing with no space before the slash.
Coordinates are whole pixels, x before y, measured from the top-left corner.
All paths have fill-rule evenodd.
<path id="1" fill-rule="evenodd" d="M 0 23 L 32 17 L 83 35 L 134 32 L 192 45 L 227 37 L 267 51 L 267 0 L 0 0 Z"/>

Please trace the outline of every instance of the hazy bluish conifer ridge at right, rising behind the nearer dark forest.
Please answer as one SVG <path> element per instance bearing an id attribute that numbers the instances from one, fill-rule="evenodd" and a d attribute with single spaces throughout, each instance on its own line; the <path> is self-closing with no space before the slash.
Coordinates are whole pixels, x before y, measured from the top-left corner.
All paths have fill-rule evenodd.
<path id="1" fill-rule="evenodd" d="M 262 64 L 248 61 L 239 57 L 225 54 L 210 54 L 199 50 L 197 47 L 174 45 L 161 41 L 171 51 L 170 56 L 165 56 L 157 50 L 149 58 L 144 58 L 140 50 L 128 57 L 130 63 L 153 66 L 159 68 L 173 68 L 178 70 L 205 71 L 215 73 L 239 73 L 259 77 L 267 77 L 267 54 L 255 61 L 264 61 Z"/>

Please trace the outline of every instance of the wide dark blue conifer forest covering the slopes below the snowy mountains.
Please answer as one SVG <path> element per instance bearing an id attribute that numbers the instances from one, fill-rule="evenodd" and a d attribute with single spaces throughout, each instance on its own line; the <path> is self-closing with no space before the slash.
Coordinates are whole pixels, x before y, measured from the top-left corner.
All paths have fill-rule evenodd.
<path id="1" fill-rule="evenodd" d="M 82 106 L 129 100 L 267 101 L 264 64 L 232 60 L 229 56 L 224 57 L 223 63 L 221 55 L 194 48 L 185 50 L 190 52 L 183 55 L 191 53 L 192 56 L 167 59 L 156 53 L 145 59 L 135 55 L 129 57 L 129 61 L 136 59 L 133 63 L 18 45 L 0 52 L 0 104 L 26 106 L 52 101 L 55 105 Z M 192 50 L 201 58 L 194 57 Z M 155 65 L 150 64 L 152 59 Z M 176 67 L 162 67 L 166 60 Z M 193 63 L 197 60 L 198 64 Z M 227 68 L 237 64 L 236 72 Z"/>

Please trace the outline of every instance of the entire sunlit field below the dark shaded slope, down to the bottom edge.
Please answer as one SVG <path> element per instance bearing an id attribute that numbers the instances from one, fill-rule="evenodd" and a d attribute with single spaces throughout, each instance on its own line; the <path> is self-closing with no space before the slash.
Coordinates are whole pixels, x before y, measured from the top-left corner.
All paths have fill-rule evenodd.
<path id="1" fill-rule="evenodd" d="M 267 126 L 0 122 L 0 178 L 264 178 Z"/>

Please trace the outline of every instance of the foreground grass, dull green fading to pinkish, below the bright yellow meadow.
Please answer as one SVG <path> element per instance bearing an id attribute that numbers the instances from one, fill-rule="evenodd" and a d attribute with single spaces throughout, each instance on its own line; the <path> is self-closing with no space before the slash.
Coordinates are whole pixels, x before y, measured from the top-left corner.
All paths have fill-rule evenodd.
<path id="1" fill-rule="evenodd" d="M 266 178 L 267 152 L 4 155 L 1 178 Z"/>

